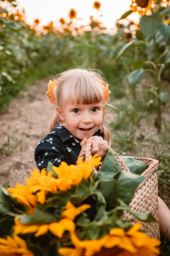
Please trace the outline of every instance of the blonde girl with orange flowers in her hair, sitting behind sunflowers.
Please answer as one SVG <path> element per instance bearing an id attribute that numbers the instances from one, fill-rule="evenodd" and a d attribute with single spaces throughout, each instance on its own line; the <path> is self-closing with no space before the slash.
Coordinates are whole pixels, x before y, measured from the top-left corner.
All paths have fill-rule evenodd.
<path id="1" fill-rule="evenodd" d="M 35 160 L 38 168 L 48 162 L 59 166 L 62 161 L 76 164 L 87 139 L 92 141 L 92 154 L 105 157 L 111 144 L 110 132 L 102 126 L 110 90 L 101 76 L 94 71 L 76 68 L 61 73 L 50 81 L 46 95 L 56 105 L 50 122 L 50 133 L 37 145 Z M 170 210 L 159 198 L 159 225 L 167 231 L 170 241 Z"/>

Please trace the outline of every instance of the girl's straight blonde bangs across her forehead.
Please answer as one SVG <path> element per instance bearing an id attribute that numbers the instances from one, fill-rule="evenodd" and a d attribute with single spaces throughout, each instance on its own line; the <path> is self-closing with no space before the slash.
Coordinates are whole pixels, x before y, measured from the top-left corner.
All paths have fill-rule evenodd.
<path id="1" fill-rule="evenodd" d="M 99 79 L 92 74 L 89 76 L 72 76 L 62 88 L 62 102 L 65 105 L 66 102 L 77 104 L 92 104 L 104 102 L 104 93 L 102 84 Z"/>

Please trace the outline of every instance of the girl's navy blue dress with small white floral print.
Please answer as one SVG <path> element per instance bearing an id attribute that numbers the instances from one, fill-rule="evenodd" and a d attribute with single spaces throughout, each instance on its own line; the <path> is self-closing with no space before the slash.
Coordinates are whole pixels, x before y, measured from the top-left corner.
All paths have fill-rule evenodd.
<path id="1" fill-rule="evenodd" d="M 93 136 L 100 136 L 104 139 L 102 131 L 98 130 Z M 54 131 L 47 134 L 37 145 L 34 157 L 38 169 L 46 168 L 48 162 L 59 166 L 62 161 L 76 164 L 77 157 L 81 150 L 81 140 L 75 139 L 70 131 L 62 124 L 56 125 Z"/>

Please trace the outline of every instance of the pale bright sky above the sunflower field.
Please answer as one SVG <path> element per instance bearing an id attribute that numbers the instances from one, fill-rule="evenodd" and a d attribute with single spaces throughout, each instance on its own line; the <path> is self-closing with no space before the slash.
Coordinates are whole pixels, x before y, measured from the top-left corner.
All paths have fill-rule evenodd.
<path id="1" fill-rule="evenodd" d="M 51 20 L 58 24 L 59 18 L 68 19 L 70 9 L 77 11 L 77 17 L 82 18 L 75 22 L 77 25 L 87 25 L 89 17 L 99 17 L 102 24 L 108 28 L 108 31 L 115 30 L 115 22 L 122 14 L 129 10 L 131 0 L 99 0 L 101 3 L 100 11 L 93 8 L 94 0 L 17 0 L 18 8 L 25 8 L 26 19 L 29 24 L 33 23 L 35 18 L 39 18 L 41 25 L 47 25 Z M 137 16 L 130 15 L 131 20 Z"/>

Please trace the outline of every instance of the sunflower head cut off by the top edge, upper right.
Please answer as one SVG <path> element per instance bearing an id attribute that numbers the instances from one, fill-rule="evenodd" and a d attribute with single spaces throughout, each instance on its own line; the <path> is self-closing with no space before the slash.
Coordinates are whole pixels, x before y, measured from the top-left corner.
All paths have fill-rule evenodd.
<path id="1" fill-rule="evenodd" d="M 147 11 L 151 11 L 156 0 L 132 0 L 130 8 L 133 12 L 144 15 Z"/>

